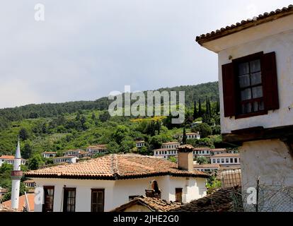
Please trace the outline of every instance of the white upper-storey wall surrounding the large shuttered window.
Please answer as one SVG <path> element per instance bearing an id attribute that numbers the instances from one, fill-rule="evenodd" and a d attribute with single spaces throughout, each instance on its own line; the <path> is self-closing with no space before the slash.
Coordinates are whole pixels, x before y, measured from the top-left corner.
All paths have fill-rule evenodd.
<path id="1" fill-rule="evenodd" d="M 219 96 L 222 133 L 254 126 L 271 128 L 293 124 L 293 16 L 258 25 L 207 44 L 219 56 Z M 268 115 L 235 119 L 224 117 L 222 65 L 256 52 L 275 52 L 280 109 Z M 289 107 L 292 109 L 290 110 Z"/>

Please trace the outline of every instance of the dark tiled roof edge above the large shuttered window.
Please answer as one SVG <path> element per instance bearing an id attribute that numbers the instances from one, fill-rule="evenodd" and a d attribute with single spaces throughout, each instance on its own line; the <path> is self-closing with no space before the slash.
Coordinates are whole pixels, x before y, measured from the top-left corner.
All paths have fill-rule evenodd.
<path id="1" fill-rule="evenodd" d="M 241 23 L 236 23 L 230 26 L 226 26 L 226 28 L 220 28 L 219 30 L 197 36 L 196 41 L 199 44 L 204 44 L 205 42 L 210 42 L 220 37 L 231 35 L 235 32 L 239 32 L 241 30 L 254 27 L 255 25 L 260 25 L 262 23 L 267 23 L 272 20 L 277 20 L 278 18 L 288 16 L 292 13 L 293 13 L 293 5 L 289 5 L 287 8 L 284 7 L 282 9 L 271 11 L 270 13 L 263 13 L 263 14 L 260 14 L 259 16 L 255 16 L 253 19 L 242 20 Z"/>

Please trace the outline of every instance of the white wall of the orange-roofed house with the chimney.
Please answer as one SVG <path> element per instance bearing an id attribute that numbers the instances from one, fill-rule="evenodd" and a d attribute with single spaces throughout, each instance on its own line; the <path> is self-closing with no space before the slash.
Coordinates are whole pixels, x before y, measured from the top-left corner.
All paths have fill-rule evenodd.
<path id="1" fill-rule="evenodd" d="M 76 212 L 91 211 L 91 189 L 105 189 L 105 211 L 113 210 L 129 201 L 129 196 L 145 195 L 145 189 L 156 180 L 161 189 L 161 198 L 175 201 L 175 189 L 183 188 L 183 201 L 190 202 L 206 196 L 206 179 L 185 177 L 149 177 L 117 181 L 84 179 L 40 179 L 37 186 L 54 186 L 54 212 L 62 211 L 62 189 L 76 188 Z M 35 205 L 35 212 L 42 211 L 42 205 Z"/>

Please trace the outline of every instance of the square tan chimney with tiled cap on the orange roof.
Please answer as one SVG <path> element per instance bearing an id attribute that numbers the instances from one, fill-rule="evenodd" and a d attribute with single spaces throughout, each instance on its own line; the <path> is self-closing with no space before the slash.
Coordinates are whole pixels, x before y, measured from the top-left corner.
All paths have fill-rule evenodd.
<path id="1" fill-rule="evenodd" d="M 178 147 L 178 169 L 193 171 L 193 146 L 180 145 Z"/>

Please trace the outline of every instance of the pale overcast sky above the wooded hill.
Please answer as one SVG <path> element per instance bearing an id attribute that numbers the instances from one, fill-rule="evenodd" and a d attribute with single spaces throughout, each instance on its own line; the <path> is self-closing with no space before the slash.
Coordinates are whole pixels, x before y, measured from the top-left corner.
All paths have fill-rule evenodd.
<path id="1" fill-rule="evenodd" d="M 45 21 L 35 21 L 35 4 Z M 0 108 L 217 81 L 202 33 L 285 0 L 2 0 Z"/>

